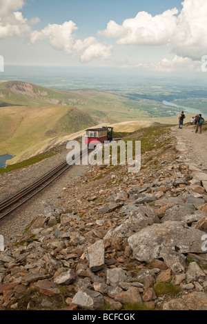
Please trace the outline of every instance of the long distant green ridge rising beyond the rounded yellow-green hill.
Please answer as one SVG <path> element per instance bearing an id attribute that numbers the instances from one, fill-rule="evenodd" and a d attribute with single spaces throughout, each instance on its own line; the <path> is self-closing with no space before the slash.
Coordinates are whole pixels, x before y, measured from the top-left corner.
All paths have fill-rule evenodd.
<path id="1" fill-rule="evenodd" d="M 0 107 L 8 105 L 75 105 L 102 121 L 126 121 L 157 114 L 156 101 L 133 101 L 119 94 L 99 90 L 52 90 L 21 81 L 0 83 Z"/>

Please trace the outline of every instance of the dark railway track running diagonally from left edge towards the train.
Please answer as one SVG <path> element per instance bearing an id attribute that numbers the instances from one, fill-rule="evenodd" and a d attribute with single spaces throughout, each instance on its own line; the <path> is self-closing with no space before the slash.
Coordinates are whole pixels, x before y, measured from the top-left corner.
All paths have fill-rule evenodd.
<path id="1" fill-rule="evenodd" d="M 85 152 L 81 152 L 81 156 L 86 154 Z M 55 181 L 63 172 L 65 172 L 71 165 L 68 165 L 67 161 L 63 161 L 55 168 L 50 170 L 50 172 L 41 176 L 41 178 L 37 179 L 30 185 L 28 185 L 23 190 L 17 192 L 10 198 L 2 201 L 0 203 L 0 219 L 3 219 L 5 216 L 16 210 L 18 207 L 29 201 L 33 196 L 41 192 L 44 188 L 46 188 L 50 183 Z"/>

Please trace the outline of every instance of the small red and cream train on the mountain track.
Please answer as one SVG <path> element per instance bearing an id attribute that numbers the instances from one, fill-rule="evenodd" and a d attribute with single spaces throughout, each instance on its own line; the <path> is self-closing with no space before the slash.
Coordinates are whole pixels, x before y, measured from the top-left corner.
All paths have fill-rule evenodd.
<path id="1" fill-rule="evenodd" d="M 89 128 L 85 133 L 85 144 L 97 145 L 105 141 L 112 141 L 113 132 L 114 128 L 108 126 L 102 128 Z"/>

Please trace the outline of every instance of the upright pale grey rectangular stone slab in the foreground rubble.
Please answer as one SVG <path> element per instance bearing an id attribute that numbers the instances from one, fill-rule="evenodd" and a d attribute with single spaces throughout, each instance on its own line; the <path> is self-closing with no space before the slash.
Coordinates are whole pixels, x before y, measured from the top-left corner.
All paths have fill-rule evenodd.
<path id="1" fill-rule="evenodd" d="M 88 247 L 88 259 L 90 263 L 89 267 L 92 272 L 97 272 L 103 269 L 105 264 L 105 248 L 103 240 L 99 240 Z"/>

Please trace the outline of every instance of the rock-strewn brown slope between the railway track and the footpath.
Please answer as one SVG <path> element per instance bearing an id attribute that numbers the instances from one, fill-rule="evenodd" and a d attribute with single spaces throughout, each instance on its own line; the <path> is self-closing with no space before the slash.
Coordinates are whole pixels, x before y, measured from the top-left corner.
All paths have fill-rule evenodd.
<path id="1" fill-rule="evenodd" d="M 0 252 L 2 310 L 207 310 L 206 172 L 168 128 L 142 168 L 90 166 Z"/>

